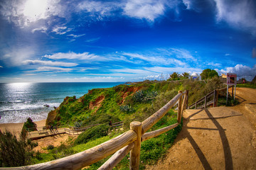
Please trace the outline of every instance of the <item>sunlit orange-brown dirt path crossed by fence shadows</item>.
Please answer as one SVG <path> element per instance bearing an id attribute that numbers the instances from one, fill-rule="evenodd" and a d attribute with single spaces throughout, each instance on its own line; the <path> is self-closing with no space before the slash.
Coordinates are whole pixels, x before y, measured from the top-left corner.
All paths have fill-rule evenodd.
<path id="1" fill-rule="evenodd" d="M 239 106 L 187 110 L 169 154 L 146 169 L 256 169 L 256 89 L 236 94 Z"/>

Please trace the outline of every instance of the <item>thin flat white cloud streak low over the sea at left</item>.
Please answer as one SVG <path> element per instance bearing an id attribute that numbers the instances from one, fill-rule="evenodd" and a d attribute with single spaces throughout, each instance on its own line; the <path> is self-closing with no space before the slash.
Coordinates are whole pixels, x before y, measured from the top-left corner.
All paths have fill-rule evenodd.
<path id="1" fill-rule="evenodd" d="M 62 67 L 75 67 L 78 64 L 72 62 L 52 62 L 52 61 L 41 61 L 41 60 L 25 60 L 22 62 L 23 64 L 30 64 L 30 65 L 48 65 L 48 66 L 62 66 Z"/>

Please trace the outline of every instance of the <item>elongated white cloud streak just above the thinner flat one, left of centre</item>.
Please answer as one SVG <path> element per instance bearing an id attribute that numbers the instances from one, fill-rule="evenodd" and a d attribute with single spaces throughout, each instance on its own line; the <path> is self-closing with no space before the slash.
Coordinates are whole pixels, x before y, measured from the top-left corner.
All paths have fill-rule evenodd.
<path id="1" fill-rule="evenodd" d="M 94 54 L 90 54 L 89 52 L 75 53 L 75 52 L 58 52 L 53 55 L 45 55 L 44 57 L 48 57 L 50 59 L 58 60 L 58 59 L 76 59 L 76 60 L 90 60 L 90 61 L 104 61 L 107 60 L 104 57 L 100 57 Z"/>

